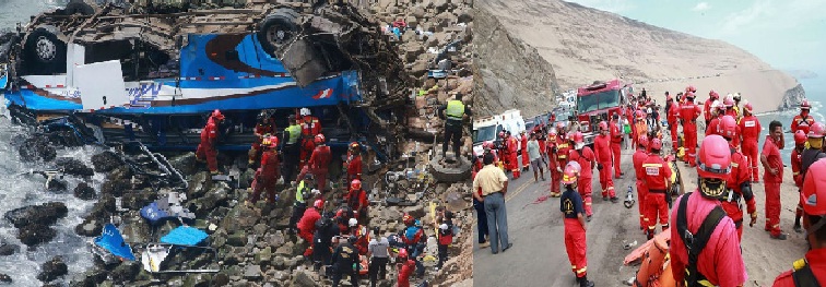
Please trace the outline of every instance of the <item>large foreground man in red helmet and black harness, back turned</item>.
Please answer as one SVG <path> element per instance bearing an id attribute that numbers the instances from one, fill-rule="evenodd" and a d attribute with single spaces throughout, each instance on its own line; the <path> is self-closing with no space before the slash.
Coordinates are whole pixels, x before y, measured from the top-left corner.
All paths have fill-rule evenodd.
<path id="1" fill-rule="evenodd" d="M 697 160 L 698 191 L 681 195 L 671 213 L 671 273 L 685 286 L 744 286 L 738 230 L 719 206 L 731 168 L 729 143 L 720 135 L 704 139 Z"/>

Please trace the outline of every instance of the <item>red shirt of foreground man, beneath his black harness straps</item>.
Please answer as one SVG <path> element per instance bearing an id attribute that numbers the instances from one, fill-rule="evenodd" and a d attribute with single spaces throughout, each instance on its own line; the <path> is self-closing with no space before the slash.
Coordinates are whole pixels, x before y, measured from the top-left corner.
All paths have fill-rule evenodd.
<path id="1" fill-rule="evenodd" d="M 686 219 L 688 231 L 696 234 L 703 220 L 711 210 L 720 204 L 718 200 L 703 198 L 699 191 L 686 193 L 674 202 L 674 208 L 671 211 L 671 223 L 676 226 L 677 206 L 680 201 L 687 198 Z M 688 251 L 685 249 L 683 238 L 677 229 L 671 228 L 671 244 L 669 254 L 671 255 L 671 274 L 674 275 L 674 282 L 685 280 L 685 267 L 688 264 Z M 697 258 L 697 272 L 706 277 L 713 286 L 735 287 L 743 286 L 746 280 L 745 264 L 743 254 L 740 251 L 740 240 L 738 240 L 738 230 L 734 223 L 728 216 L 724 216 L 711 232 L 706 247 L 700 251 Z"/>

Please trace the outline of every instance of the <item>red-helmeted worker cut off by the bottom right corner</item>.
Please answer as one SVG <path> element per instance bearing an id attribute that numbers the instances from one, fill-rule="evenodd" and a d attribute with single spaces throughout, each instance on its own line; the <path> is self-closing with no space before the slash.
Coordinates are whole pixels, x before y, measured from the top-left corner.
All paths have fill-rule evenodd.
<path id="1" fill-rule="evenodd" d="M 774 287 L 802 287 L 826 285 L 826 160 L 817 160 L 805 176 L 800 198 L 803 204 L 803 227 L 811 247 L 803 259 L 792 264 L 775 279 Z M 817 175 L 817 176 L 815 176 Z M 819 177 L 818 177 L 819 176 Z"/>

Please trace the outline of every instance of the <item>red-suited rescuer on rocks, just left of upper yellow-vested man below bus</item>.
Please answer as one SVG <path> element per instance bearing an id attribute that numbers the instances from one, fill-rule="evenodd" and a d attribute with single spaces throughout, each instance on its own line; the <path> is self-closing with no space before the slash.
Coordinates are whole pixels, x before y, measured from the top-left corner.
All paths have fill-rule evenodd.
<path id="1" fill-rule="evenodd" d="M 281 178 L 279 154 L 275 152 L 276 146 L 279 146 L 279 137 L 275 136 L 264 139 L 259 145 L 259 148 L 263 147 L 264 152 L 261 154 L 261 164 L 252 180 L 252 195 L 249 200 L 251 204 L 258 202 L 261 198 L 261 191 L 266 192 L 268 203 L 275 203 L 275 184 Z"/>

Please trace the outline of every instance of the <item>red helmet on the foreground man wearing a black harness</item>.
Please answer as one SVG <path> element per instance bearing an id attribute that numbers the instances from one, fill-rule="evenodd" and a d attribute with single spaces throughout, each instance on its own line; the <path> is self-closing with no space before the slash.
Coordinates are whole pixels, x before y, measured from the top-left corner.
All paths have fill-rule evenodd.
<path id="1" fill-rule="evenodd" d="M 717 134 L 704 139 L 697 156 L 697 175 L 704 179 L 727 180 L 729 172 L 731 172 L 729 142 Z"/>

